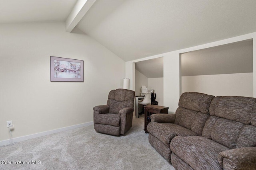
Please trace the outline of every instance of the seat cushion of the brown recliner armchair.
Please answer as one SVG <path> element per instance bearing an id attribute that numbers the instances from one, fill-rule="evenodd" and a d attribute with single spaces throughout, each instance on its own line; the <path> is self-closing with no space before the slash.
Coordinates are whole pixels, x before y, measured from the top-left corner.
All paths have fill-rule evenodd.
<path id="1" fill-rule="evenodd" d="M 94 123 L 119 127 L 120 116 L 111 113 L 94 115 Z"/>

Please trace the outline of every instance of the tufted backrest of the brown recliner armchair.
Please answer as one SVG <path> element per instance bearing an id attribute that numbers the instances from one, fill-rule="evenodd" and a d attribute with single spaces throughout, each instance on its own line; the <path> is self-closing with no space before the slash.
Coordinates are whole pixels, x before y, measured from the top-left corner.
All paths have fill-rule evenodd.
<path id="1" fill-rule="evenodd" d="M 109 113 L 118 114 L 126 107 L 134 107 L 135 92 L 127 89 L 111 90 L 108 94 Z"/>

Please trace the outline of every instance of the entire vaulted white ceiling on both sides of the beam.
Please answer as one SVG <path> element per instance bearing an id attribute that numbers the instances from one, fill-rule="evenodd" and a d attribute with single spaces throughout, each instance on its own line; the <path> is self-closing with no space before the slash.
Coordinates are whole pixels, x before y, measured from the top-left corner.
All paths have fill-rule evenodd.
<path id="1" fill-rule="evenodd" d="M 65 21 L 74 0 L 0 0 L 0 22 Z M 76 25 L 124 61 L 256 32 L 252 0 L 96 0 Z"/>

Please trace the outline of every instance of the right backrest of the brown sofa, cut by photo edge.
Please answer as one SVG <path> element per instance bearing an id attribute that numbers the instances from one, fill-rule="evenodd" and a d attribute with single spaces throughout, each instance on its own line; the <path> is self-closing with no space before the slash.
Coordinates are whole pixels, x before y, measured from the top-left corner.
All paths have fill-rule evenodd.
<path id="1" fill-rule="evenodd" d="M 209 111 L 202 136 L 230 149 L 256 147 L 256 98 L 218 96 Z"/>

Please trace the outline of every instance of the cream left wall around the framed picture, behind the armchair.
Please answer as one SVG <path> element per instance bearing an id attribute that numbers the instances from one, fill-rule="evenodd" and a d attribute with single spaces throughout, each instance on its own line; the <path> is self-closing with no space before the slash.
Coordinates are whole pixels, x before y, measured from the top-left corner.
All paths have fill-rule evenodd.
<path id="1" fill-rule="evenodd" d="M 122 88 L 125 62 L 65 23 L 1 24 L 0 140 L 93 121 L 93 107 Z M 84 82 L 50 82 L 50 56 L 84 60 Z"/>

